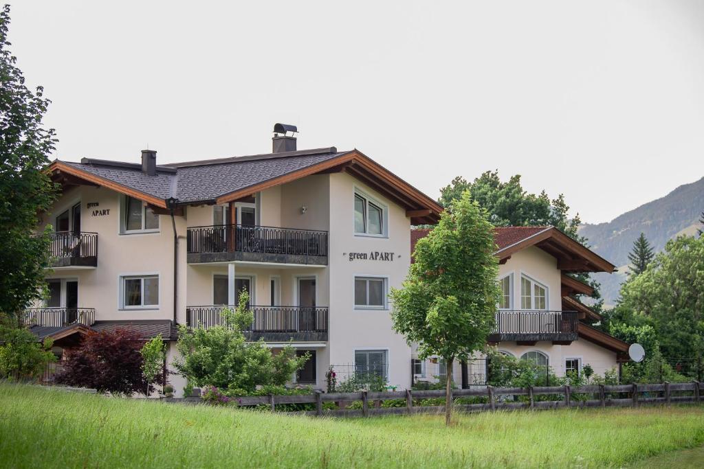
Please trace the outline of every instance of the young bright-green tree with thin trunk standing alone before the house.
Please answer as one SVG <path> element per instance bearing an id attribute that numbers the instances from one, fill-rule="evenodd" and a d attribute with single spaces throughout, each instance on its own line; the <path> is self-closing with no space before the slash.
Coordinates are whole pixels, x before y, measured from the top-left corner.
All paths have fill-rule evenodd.
<path id="1" fill-rule="evenodd" d="M 484 349 L 498 304 L 494 226 L 465 191 L 439 224 L 415 245 L 415 262 L 400 289 L 391 289 L 394 330 L 418 344 L 418 356 L 447 364 L 445 421 L 452 412 L 452 366 Z"/>

